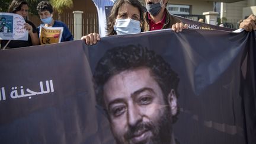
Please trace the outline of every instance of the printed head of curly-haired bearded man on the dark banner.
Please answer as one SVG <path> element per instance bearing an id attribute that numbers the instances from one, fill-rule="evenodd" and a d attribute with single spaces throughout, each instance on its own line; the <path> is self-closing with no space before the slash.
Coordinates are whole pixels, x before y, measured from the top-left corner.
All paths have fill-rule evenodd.
<path id="1" fill-rule="evenodd" d="M 134 45 L 108 50 L 95 68 L 94 85 L 116 142 L 175 143 L 178 82 L 153 50 Z"/>

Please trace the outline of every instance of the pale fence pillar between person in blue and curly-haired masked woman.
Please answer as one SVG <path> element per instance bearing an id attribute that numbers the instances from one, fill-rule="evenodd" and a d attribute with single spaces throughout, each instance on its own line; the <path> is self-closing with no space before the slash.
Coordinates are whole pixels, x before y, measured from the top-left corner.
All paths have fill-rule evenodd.
<path id="1" fill-rule="evenodd" d="M 82 37 L 82 14 L 83 11 L 73 11 L 74 15 L 74 40 L 80 40 Z"/>

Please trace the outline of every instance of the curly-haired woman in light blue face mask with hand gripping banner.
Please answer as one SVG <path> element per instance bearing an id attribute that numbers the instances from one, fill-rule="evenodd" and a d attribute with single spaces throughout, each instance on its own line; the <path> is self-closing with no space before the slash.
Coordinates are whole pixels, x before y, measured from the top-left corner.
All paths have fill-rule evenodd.
<path id="1" fill-rule="evenodd" d="M 140 33 L 143 18 L 143 7 L 137 0 L 118 0 L 114 4 L 107 23 L 107 36 Z M 126 25 L 124 27 L 123 25 Z M 95 44 L 100 35 L 91 33 L 83 36 L 87 44 Z"/>

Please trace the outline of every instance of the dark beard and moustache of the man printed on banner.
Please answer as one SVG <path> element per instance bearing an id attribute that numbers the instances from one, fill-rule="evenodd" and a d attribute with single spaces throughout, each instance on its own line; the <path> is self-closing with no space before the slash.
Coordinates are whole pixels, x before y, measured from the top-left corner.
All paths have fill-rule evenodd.
<path id="1" fill-rule="evenodd" d="M 164 113 L 159 117 L 156 123 L 152 121 L 143 122 L 139 121 L 135 126 L 129 126 L 128 131 L 124 134 L 125 142 L 122 142 L 121 137 L 115 137 L 117 144 L 132 144 L 132 137 L 136 135 L 137 132 L 151 131 L 152 137 L 146 139 L 143 142 L 136 144 L 170 144 L 172 139 L 172 116 L 169 105 L 164 107 Z"/>

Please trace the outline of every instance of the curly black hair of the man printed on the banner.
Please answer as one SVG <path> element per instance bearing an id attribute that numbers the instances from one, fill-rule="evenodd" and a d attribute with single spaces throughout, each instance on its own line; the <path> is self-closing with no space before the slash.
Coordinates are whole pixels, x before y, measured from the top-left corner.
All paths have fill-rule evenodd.
<path id="1" fill-rule="evenodd" d="M 146 47 L 129 45 L 107 50 L 97 63 L 93 75 L 97 104 L 107 110 L 103 98 L 104 85 L 111 76 L 142 67 L 151 70 L 151 75 L 162 89 L 165 103 L 168 101 L 171 89 L 174 89 L 178 97 L 177 88 L 180 79 L 178 74 L 171 69 L 169 63 Z"/>

